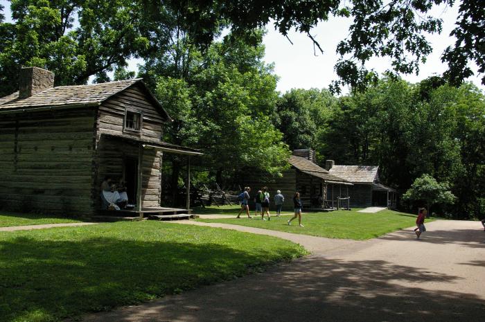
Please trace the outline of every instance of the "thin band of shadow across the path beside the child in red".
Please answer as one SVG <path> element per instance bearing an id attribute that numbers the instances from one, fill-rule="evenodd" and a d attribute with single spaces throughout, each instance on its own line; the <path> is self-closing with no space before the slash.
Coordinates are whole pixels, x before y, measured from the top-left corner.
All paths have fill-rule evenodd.
<path id="1" fill-rule="evenodd" d="M 403 230 L 382 236 L 383 240 L 405 240 L 415 239 L 413 231 Z M 460 246 L 472 248 L 485 248 L 484 234 L 477 229 L 450 229 L 434 230 L 428 229 L 421 235 L 419 242 L 429 242 L 431 244 L 458 244 Z"/>

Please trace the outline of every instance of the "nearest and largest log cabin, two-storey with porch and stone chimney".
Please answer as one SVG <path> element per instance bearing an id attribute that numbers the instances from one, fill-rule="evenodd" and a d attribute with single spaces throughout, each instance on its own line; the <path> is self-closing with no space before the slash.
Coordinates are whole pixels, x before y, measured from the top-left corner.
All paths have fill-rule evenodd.
<path id="1" fill-rule="evenodd" d="M 94 215 L 109 176 L 137 215 L 162 211 L 164 153 L 201 154 L 162 141 L 170 121 L 141 79 L 54 87 L 50 71 L 22 68 L 19 91 L 0 98 L 0 208 Z"/>

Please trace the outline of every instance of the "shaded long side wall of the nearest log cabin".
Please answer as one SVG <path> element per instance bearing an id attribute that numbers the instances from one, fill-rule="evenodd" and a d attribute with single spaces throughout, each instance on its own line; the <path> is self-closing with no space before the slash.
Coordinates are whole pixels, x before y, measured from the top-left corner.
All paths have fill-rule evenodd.
<path id="1" fill-rule="evenodd" d="M 0 207 L 91 213 L 96 110 L 0 116 Z"/>

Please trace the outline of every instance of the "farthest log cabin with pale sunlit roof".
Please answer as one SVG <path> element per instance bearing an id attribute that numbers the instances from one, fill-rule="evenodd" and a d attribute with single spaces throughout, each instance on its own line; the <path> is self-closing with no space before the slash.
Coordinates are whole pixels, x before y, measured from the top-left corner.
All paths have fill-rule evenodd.
<path id="1" fill-rule="evenodd" d="M 353 184 L 349 187 L 349 193 L 352 196 L 351 207 L 396 208 L 396 189 L 380 183 L 379 166 L 335 166 L 335 161 L 327 160 L 325 168 L 330 175 L 335 175 Z"/>

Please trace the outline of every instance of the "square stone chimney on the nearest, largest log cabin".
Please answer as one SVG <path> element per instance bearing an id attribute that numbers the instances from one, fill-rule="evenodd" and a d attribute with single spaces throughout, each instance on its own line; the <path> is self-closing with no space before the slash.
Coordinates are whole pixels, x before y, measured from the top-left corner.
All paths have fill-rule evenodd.
<path id="1" fill-rule="evenodd" d="M 22 67 L 19 75 L 19 98 L 28 98 L 54 87 L 54 73 L 39 67 Z"/>

